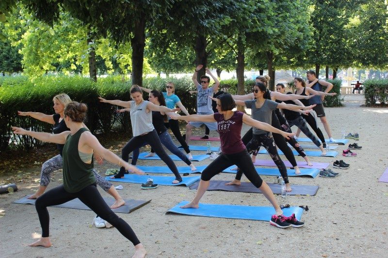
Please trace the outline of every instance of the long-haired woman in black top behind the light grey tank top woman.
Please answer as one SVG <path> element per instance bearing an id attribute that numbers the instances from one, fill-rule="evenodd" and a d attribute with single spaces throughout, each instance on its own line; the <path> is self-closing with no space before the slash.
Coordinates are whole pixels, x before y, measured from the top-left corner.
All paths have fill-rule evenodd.
<path id="1" fill-rule="evenodd" d="M 139 87 L 140 88 L 140 87 Z M 155 104 L 156 106 L 166 106 L 166 102 L 164 100 L 164 96 L 160 91 L 152 90 L 149 92 L 148 100 Z M 118 112 L 128 111 L 127 109 L 117 110 Z M 172 115 L 168 113 L 169 115 Z M 178 147 L 173 143 L 170 134 L 167 132 L 167 128 L 164 125 L 164 122 L 167 122 L 167 115 L 164 112 L 152 111 L 152 124 L 158 133 L 158 137 L 161 140 L 161 143 L 166 147 L 170 152 L 177 155 L 182 161 L 184 161 L 190 168 L 191 171 L 196 170 L 194 164 L 181 152 Z M 147 143 L 145 142 L 143 146 Z M 136 165 L 137 159 L 139 157 L 140 149 L 136 148 L 132 153 L 132 165 Z M 149 156 L 149 155 L 147 155 Z"/>

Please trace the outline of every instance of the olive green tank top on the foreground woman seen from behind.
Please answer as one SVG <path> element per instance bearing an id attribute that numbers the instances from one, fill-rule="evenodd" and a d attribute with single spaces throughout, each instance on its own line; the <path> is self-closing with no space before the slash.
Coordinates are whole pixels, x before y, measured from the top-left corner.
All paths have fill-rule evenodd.
<path id="1" fill-rule="evenodd" d="M 81 191 L 88 185 L 96 182 L 93 174 L 93 157 L 92 163 L 87 164 L 80 158 L 78 152 L 78 142 L 81 134 L 88 131 L 86 128 L 81 128 L 74 135 L 69 134 L 63 149 L 63 173 L 64 173 L 64 188 L 68 193 L 76 193 Z"/>

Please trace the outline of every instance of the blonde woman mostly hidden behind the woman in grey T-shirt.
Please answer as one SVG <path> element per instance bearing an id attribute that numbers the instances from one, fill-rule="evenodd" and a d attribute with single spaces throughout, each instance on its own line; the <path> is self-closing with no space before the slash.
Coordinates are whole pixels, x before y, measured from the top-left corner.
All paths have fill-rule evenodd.
<path id="1" fill-rule="evenodd" d="M 256 82 L 261 82 L 266 87 L 268 87 L 269 80 L 270 80 L 270 77 L 267 75 L 256 77 Z M 282 101 L 295 100 L 296 103 L 300 106 L 303 106 L 303 105 L 301 102 L 298 102 L 298 99 L 311 98 L 311 96 L 300 96 L 300 95 L 294 95 L 294 94 L 285 95 L 285 94 L 278 93 L 276 91 L 268 91 L 268 90 L 267 90 L 267 93 L 264 95 L 264 97 L 269 99 L 269 100 L 274 100 L 274 101 L 275 101 L 275 99 L 282 100 Z M 233 95 L 233 98 L 236 100 L 245 101 L 245 100 L 253 100 L 255 98 L 255 96 L 253 93 L 249 93 L 246 95 Z M 277 118 L 275 111 L 273 111 L 273 113 L 272 113 L 272 124 L 271 125 L 279 130 L 282 130 L 282 127 L 280 126 L 280 123 L 279 123 L 279 120 Z M 278 134 L 273 135 L 273 137 L 274 137 L 276 146 L 284 153 L 287 160 L 290 161 L 292 168 L 295 170 L 295 174 L 300 174 L 300 169 L 296 163 L 295 156 L 294 156 L 291 148 L 287 145 L 287 142 L 289 142 L 291 144 L 291 146 L 293 146 L 296 149 L 296 151 L 298 151 L 305 158 L 307 165 L 311 165 L 311 163 L 309 163 L 309 160 L 308 160 L 306 153 L 304 153 L 304 150 L 300 147 L 299 143 L 297 143 L 293 137 L 291 137 L 290 139 L 285 139 L 284 137 L 281 137 Z M 251 139 L 252 139 L 252 128 L 249 129 L 248 132 L 246 132 L 246 134 L 242 137 L 242 141 L 246 144 Z M 257 152 L 254 152 L 253 156 L 252 156 L 253 162 L 255 162 L 255 160 L 256 160 L 256 155 L 257 155 Z"/>

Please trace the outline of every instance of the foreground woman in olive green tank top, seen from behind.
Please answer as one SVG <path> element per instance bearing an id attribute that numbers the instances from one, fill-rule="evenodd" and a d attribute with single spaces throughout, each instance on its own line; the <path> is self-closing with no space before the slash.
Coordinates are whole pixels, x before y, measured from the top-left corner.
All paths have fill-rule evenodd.
<path id="1" fill-rule="evenodd" d="M 136 237 L 135 232 L 123 219 L 119 218 L 105 203 L 96 187 L 96 179 L 93 170 L 93 152 L 97 152 L 109 162 L 124 166 L 135 173 L 142 173 L 139 169 L 129 165 L 113 152 L 105 149 L 86 128 L 82 122 L 86 117 L 87 107 L 85 104 L 71 102 L 65 107 L 65 123 L 70 131 L 60 134 L 49 134 L 27 131 L 22 128 L 12 127 L 15 134 L 28 135 L 45 142 L 65 144 L 63 149 L 63 176 L 64 184 L 54 187 L 35 202 L 42 237 L 30 244 L 30 246 L 50 247 L 49 239 L 49 212 L 47 207 L 59 205 L 79 198 L 99 217 L 111 223 L 120 233 L 135 246 L 133 257 L 143 258 L 146 256 L 146 249 Z"/>

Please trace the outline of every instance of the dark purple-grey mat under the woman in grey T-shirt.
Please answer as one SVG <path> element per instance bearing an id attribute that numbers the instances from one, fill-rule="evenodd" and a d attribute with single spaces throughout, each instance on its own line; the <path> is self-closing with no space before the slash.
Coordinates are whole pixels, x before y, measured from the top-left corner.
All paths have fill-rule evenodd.
<path id="1" fill-rule="evenodd" d="M 230 181 L 218 181 L 218 180 L 210 180 L 210 185 L 207 190 L 223 190 L 229 192 L 241 192 L 241 193 L 260 193 L 259 188 L 256 188 L 251 182 L 241 182 L 241 185 L 225 185 Z M 282 185 L 278 183 L 267 183 L 271 188 L 272 192 L 276 195 L 281 195 Z M 190 185 L 190 189 L 198 189 L 199 182 L 196 182 Z M 297 185 L 291 184 L 292 191 L 287 193 L 287 195 L 308 195 L 313 196 L 316 195 L 319 189 L 317 185 Z"/>

